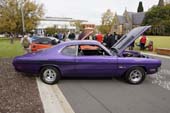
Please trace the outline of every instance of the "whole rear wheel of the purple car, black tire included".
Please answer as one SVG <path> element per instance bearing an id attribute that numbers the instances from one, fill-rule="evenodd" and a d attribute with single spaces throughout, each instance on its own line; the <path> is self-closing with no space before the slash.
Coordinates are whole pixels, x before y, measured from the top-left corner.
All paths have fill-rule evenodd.
<path id="1" fill-rule="evenodd" d="M 61 74 L 55 67 L 47 66 L 41 69 L 40 79 L 46 84 L 53 85 L 57 83 L 60 78 Z"/>

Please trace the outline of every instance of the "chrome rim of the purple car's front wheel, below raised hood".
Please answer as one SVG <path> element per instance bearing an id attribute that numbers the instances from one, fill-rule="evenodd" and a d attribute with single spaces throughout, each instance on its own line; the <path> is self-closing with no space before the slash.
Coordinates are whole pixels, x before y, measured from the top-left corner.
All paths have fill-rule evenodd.
<path id="1" fill-rule="evenodd" d="M 132 70 L 129 74 L 129 80 L 132 83 L 138 83 L 142 80 L 142 72 L 140 70 Z"/>

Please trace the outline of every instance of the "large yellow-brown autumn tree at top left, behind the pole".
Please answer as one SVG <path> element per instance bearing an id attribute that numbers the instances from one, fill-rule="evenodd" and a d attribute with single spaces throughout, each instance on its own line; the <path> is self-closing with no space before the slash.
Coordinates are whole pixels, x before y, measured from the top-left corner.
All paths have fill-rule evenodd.
<path id="1" fill-rule="evenodd" d="M 23 7 L 26 32 L 36 28 L 43 16 L 43 5 L 32 0 L 0 0 L 0 32 L 22 33 L 21 7 Z"/>

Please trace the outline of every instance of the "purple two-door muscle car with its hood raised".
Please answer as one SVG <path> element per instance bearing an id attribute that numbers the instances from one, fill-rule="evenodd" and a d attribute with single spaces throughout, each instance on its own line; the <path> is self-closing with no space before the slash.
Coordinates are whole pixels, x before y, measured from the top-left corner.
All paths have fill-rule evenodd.
<path id="1" fill-rule="evenodd" d="M 61 77 L 123 77 L 130 84 L 140 84 L 146 74 L 156 73 L 161 61 L 125 49 L 150 26 L 137 27 L 124 35 L 110 50 L 97 41 L 62 42 L 50 49 L 14 58 L 19 72 L 40 74 L 47 84 Z"/>

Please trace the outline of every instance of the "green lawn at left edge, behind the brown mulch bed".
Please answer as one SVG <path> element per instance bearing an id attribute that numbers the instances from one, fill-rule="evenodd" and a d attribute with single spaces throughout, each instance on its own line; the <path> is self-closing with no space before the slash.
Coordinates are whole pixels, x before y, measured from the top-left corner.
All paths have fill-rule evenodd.
<path id="1" fill-rule="evenodd" d="M 0 58 L 9 58 L 22 55 L 24 50 L 19 40 L 14 40 L 14 44 L 10 44 L 9 39 L 0 39 Z"/>

